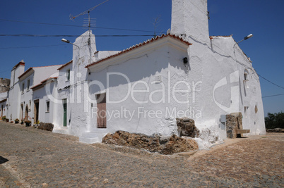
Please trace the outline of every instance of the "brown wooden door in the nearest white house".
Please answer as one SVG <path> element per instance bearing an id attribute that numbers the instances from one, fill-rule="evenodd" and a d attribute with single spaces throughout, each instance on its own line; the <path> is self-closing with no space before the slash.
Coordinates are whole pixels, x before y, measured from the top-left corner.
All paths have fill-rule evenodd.
<path id="1" fill-rule="evenodd" d="M 106 94 L 97 94 L 97 128 L 107 128 Z"/>

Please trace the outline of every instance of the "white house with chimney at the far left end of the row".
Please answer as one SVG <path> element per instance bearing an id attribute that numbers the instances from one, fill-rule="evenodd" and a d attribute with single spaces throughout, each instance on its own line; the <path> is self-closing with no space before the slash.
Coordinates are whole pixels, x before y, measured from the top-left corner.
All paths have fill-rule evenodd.
<path id="1" fill-rule="evenodd" d="M 61 65 L 45 67 L 31 67 L 25 70 L 25 62 L 20 61 L 11 71 L 11 87 L 8 92 L 7 115 L 10 120 L 30 120 L 35 123 L 38 120 L 40 106 L 38 99 L 33 99 L 32 87 L 40 84 L 42 80 L 57 73 Z M 40 96 L 44 97 L 44 96 Z"/>

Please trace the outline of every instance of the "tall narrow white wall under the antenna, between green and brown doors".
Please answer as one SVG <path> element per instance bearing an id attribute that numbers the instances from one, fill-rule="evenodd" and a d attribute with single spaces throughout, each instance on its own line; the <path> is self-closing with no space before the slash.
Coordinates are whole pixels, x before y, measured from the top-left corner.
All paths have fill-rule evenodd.
<path id="1" fill-rule="evenodd" d="M 88 45 L 88 38 L 90 35 L 90 46 Z M 88 69 L 85 68 L 86 65 L 93 63 L 95 61 L 95 51 L 97 51 L 95 45 L 95 35 L 92 31 L 86 31 L 80 37 L 76 39 L 73 45 L 73 67 L 71 71 L 70 88 L 66 94 L 62 93 L 59 96 L 67 97 L 67 131 L 69 134 L 76 136 L 81 136 L 82 132 L 87 130 L 87 119 L 89 118 L 84 113 L 84 99 L 86 99 L 87 93 L 83 91 L 84 83 L 87 82 L 86 77 L 88 76 Z M 58 106 L 59 111 L 63 106 Z M 62 115 L 63 117 L 63 115 Z M 70 123 L 69 123 L 70 120 Z"/>

